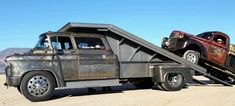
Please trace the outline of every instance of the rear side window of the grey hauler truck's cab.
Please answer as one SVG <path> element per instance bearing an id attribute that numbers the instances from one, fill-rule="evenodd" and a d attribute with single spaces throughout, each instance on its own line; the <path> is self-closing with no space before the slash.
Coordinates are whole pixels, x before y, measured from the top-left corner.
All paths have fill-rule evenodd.
<path id="1" fill-rule="evenodd" d="M 105 49 L 100 38 L 75 37 L 78 49 Z"/>

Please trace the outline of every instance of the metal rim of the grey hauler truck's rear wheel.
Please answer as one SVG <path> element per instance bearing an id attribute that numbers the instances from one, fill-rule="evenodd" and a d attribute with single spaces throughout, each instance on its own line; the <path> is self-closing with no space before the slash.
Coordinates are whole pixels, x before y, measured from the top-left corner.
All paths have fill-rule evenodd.
<path id="1" fill-rule="evenodd" d="M 180 74 L 168 74 L 167 82 L 171 86 L 178 86 L 181 83 L 182 75 Z"/>

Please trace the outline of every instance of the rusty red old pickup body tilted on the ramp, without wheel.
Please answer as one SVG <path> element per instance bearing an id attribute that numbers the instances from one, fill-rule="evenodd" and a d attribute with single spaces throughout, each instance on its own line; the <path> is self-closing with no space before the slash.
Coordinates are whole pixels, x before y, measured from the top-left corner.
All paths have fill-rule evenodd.
<path id="1" fill-rule="evenodd" d="M 228 35 L 219 32 L 204 32 L 196 36 L 182 31 L 173 31 L 164 38 L 162 47 L 183 56 L 187 50 L 199 53 L 200 59 L 222 67 L 233 67 L 234 45 L 230 45 Z M 234 68 L 231 68 L 234 69 Z"/>

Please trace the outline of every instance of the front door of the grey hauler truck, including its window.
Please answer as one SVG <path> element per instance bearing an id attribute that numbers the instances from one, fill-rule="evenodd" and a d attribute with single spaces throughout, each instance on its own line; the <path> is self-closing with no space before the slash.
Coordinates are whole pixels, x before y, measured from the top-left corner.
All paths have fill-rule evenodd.
<path id="1" fill-rule="evenodd" d="M 71 38 L 68 36 L 53 36 L 51 37 L 51 45 L 56 50 L 54 61 L 58 67 L 57 69 L 61 68 L 64 80 L 78 80 L 78 55 L 75 54 Z"/>

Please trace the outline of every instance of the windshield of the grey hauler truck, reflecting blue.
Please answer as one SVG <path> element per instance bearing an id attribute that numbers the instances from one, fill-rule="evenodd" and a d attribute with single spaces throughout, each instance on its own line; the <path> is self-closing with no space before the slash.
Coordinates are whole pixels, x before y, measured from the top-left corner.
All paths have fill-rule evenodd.
<path id="1" fill-rule="evenodd" d="M 46 49 L 49 47 L 47 36 L 41 36 L 34 48 L 36 49 Z"/>

